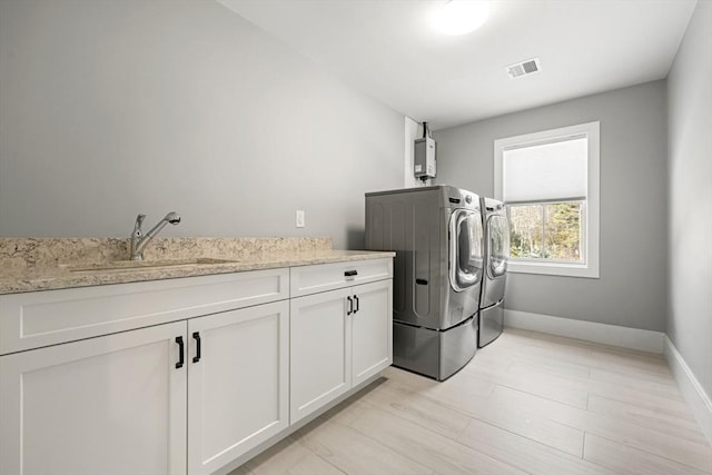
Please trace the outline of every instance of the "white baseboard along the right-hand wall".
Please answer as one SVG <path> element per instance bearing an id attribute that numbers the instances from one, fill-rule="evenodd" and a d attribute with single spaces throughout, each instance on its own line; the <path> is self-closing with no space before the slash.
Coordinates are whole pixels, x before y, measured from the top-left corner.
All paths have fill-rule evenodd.
<path id="1" fill-rule="evenodd" d="M 694 373 L 682 358 L 682 355 L 678 353 L 678 348 L 675 348 L 668 335 L 665 335 L 663 354 L 670 370 L 678 382 L 680 392 L 690 405 L 692 414 L 694 414 L 700 424 L 700 428 L 710 441 L 710 444 L 712 444 L 712 399 L 710 399 L 710 395 L 704 392 Z"/>

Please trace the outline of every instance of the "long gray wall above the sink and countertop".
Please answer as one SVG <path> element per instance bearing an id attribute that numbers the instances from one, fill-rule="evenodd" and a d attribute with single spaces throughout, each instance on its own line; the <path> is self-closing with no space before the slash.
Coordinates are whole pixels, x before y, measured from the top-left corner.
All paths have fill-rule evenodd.
<path id="1" fill-rule="evenodd" d="M 0 236 L 330 236 L 404 118 L 212 1 L 0 1 Z M 305 229 L 295 210 L 306 210 Z"/>

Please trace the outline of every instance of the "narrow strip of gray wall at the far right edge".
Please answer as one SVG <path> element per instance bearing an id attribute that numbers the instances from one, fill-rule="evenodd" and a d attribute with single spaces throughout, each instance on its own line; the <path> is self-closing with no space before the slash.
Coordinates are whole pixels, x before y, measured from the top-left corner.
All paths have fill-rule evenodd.
<path id="1" fill-rule="evenodd" d="M 712 2 L 700 1 L 669 77 L 668 336 L 712 396 Z"/>

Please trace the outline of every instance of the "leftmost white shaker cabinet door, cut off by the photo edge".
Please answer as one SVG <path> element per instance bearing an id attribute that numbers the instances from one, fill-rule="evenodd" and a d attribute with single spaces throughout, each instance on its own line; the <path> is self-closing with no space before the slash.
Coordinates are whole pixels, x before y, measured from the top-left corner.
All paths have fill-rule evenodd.
<path id="1" fill-rule="evenodd" d="M 185 474 L 186 323 L 0 357 L 3 474 Z"/>

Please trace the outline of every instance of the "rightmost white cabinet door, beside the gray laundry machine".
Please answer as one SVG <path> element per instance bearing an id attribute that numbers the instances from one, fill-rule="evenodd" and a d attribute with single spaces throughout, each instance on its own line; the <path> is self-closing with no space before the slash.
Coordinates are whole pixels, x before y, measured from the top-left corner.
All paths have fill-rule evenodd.
<path id="1" fill-rule="evenodd" d="M 357 310 L 352 319 L 353 386 L 393 363 L 393 280 L 353 288 Z"/>

